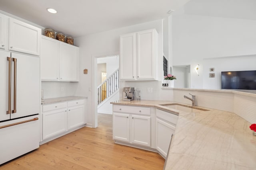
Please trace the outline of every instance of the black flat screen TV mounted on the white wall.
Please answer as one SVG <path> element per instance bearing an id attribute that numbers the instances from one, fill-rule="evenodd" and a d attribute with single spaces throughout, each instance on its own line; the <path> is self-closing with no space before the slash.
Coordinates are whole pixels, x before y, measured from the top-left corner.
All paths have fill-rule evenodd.
<path id="1" fill-rule="evenodd" d="M 221 88 L 256 90 L 256 70 L 221 72 Z"/>

